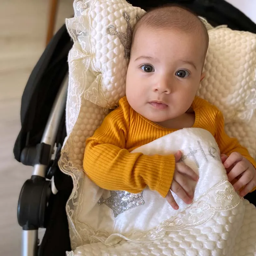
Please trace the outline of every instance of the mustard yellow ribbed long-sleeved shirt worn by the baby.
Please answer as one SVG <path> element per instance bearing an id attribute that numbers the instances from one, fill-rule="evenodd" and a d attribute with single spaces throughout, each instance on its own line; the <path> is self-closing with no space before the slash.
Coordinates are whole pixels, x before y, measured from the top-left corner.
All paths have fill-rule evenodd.
<path id="1" fill-rule="evenodd" d="M 232 152 L 239 152 L 256 166 L 248 150 L 225 133 L 224 118 L 218 108 L 199 97 L 193 101 L 192 108 L 195 112 L 193 127 L 211 132 L 221 154 L 229 156 Z M 119 107 L 106 116 L 86 141 L 84 170 L 101 188 L 139 193 L 148 185 L 165 197 L 175 171 L 174 156 L 130 152 L 174 131 L 141 116 L 123 97 Z"/>

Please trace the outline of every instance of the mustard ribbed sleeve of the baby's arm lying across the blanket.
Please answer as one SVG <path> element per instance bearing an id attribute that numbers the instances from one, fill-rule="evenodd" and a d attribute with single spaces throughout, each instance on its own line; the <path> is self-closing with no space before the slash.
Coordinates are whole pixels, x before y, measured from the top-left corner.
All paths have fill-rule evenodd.
<path id="1" fill-rule="evenodd" d="M 146 185 L 165 197 L 175 170 L 174 155 L 146 156 L 125 149 L 129 111 L 119 106 L 86 141 L 84 170 L 99 187 L 139 193 Z"/>

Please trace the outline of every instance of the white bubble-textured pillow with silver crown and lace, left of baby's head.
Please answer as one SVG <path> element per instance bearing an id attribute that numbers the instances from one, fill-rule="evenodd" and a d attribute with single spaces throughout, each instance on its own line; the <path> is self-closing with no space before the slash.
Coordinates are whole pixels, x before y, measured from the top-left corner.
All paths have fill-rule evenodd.
<path id="1" fill-rule="evenodd" d="M 132 28 L 145 11 L 124 0 L 76 0 L 74 10 L 75 17 L 66 20 L 74 40 L 70 82 L 85 86 L 87 100 L 113 108 L 125 95 Z"/>

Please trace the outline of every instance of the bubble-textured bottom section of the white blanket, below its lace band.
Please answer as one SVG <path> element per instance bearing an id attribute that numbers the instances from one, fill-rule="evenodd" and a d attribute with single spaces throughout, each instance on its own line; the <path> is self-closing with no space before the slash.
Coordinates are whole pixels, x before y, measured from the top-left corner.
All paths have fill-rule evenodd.
<path id="1" fill-rule="evenodd" d="M 239 211 L 239 210 L 236 210 Z M 222 213 L 219 223 L 214 223 L 214 219 L 205 229 L 186 228 L 181 231 L 169 233 L 163 239 L 150 243 L 134 243 L 131 241 L 122 241 L 115 246 L 108 247 L 102 243 L 82 245 L 76 248 L 74 252 L 68 252 L 67 256 L 130 256 L 130 255 L 173 255 L 173 256 L 212 256 L 212 255 L 232 255 L 232 256 L 253 256 L 256 252 L 256 211 L 252 204 L 245 200 L 244 226 L 239 238 L 227 240 L 230 230 L 234 232 L 241 225 L 243 212 L 240 208 L 238 212 L 231 211 Z M 253 220 L 253 222 L 252 222 Z M 228 223 L 224 228 L 221 222 Z M 235 227 L 234 227 L 235 226 Z M 247 232 L 250 226 L 255 227 L 254 231 Z M 214 228 L 212 228 L 214 227 Z M 248 243 L 249 240 L 252 240 Z M 207 241 L 206 246 L 204 247 Z M 250 244 L 250 246 L 248 246 Z M 233 252 L 228 249 L 234 248 Z"/>

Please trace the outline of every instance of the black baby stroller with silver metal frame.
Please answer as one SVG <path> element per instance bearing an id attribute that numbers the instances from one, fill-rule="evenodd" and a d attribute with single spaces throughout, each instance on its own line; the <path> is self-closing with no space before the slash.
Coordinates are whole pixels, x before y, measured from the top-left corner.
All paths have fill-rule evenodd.
<path id="1" fill-rule="evenodd" d="M 256 33 L 256 24 L 224 0 L 140 0 L 136 3 L 132 0 L 130 3 L 146 11 L 157 5 L 177 3 L 205 17 L 213 26 L 227 24 L 232 29 Z M 23 256 L 58 256 L 71 251 L 65 205 L 73 185 L 71 178 L 62 173 L 57 164 L 66 137 L 67 56 L 71 47 L 72 42 L 63 26 L 36 64 L 22 96 L 22 127 L 14 155 L 22 164 L 34 166 L 18 202 Z M 52 179 L 57 194 L 52 193 Z M 246 199 L 256 204 L 253 194 L 247 195 Z M 46 228 L 39 246 L 38 228 Z"/>

